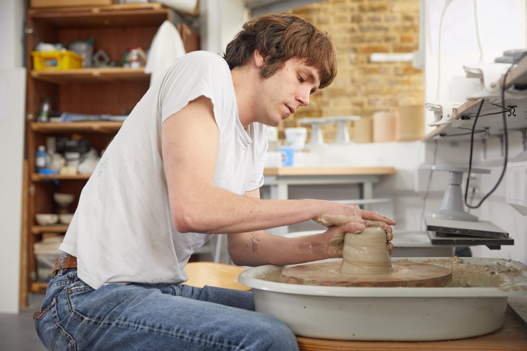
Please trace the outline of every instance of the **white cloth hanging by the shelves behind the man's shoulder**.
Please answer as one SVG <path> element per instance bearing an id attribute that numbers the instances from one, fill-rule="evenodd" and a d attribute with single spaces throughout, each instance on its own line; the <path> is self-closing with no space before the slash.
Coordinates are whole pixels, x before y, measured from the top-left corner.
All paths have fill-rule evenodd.
<path id="1" fill-rule="evenodd" d="M 174 61 L 186 54 L 178 29 L 170 21 L 164 21 L 155 33 L 150 45 L 145 73 L 150 73 L 150 85 L 170 67 Z"/>

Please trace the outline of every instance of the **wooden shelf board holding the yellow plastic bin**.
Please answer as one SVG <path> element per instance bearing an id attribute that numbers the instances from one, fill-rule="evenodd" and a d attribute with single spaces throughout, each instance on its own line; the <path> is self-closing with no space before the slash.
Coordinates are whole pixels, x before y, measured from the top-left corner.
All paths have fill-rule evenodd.
<path id="1" fill-rule="evenodd" d="M 61 71 L 31 71 L 31 76 L 39 81 L 65 84 L 70 82 L 122 82 L 150 79 L 144 67 L 100 67 L 63 69 Z"/>

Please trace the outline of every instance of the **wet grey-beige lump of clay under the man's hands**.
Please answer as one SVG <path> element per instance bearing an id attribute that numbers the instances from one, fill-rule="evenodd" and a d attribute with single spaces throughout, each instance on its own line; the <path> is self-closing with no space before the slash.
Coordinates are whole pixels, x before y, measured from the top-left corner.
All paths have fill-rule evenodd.
<path id="1" fill-rule="evenodd" d="M 362 233 L 346 233 L 340 273 L 387 274 L 393 272 L 386 246 L 386 232 L 366 227 Z"/>

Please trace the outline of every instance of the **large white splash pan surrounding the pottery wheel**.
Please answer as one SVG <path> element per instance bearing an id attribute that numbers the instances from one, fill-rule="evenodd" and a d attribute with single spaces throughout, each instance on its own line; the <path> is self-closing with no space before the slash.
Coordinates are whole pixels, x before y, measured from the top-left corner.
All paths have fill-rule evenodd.
<path id="1" fill-rule="evenodd" d="M 330 262 L 338 259 L 324 260 Z M 527 266 L 478 257 L 412 257 L 452 267 L 446 287 L 333 287 L 279 283 L 284 268 L 249 268 L 256 310 L 282 320 L 298 336 L 337 340 L 447 340 L 501 328 L 508 296 L 527 295 Z"/>

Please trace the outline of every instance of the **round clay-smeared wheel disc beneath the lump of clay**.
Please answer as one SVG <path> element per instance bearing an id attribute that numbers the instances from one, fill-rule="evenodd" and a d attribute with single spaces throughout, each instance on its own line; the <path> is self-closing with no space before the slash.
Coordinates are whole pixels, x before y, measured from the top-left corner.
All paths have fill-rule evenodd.
<path id="1" fill-rule="evenodd" d="M 361 287 L 440 287 L 452 280 L 452 270 L 436 265 L 392 262 L 387 274 L 342 274 L 341 262 L 312 263 L 284 269 L 281 280 L 288 284 Z"/>

